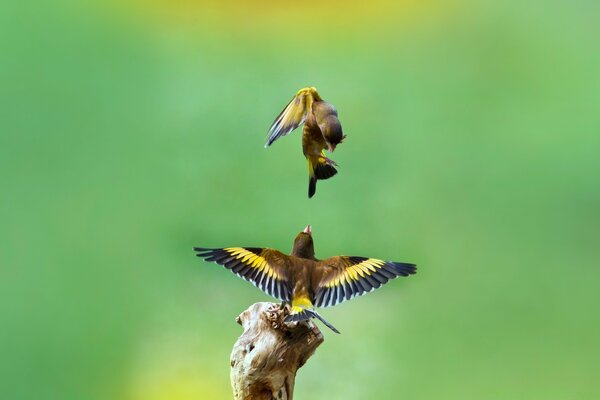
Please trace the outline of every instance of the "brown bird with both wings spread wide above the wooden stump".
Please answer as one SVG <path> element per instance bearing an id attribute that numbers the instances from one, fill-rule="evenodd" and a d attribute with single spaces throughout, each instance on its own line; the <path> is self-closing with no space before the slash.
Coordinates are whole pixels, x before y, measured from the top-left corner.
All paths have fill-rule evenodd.
<path id="1" fill-rule="evenodd" d="M 294 239 L 290 255 L 261 247 L 194 247 L 196 255 L 215 262 L 291 306 L 285 322 L 319 319 L 340 333 L 317 311 L 369 293 L 398 276 L 416 273 L 416 265 L 368 257 L 315 257 L 308 225 Z"/>

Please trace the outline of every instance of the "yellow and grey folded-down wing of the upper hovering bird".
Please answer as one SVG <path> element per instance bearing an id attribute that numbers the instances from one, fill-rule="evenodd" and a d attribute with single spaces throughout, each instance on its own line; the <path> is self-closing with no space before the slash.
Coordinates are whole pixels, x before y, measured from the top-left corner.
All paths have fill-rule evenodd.
<path id="1" fill-rule="evenodd" d="M 292 101 L 275 118 L 269 129 L 267 143 L 269 147 L 274 141 L 287 135 L 306 120 L 306 115 L 310 111 L 313 101 L 320 99 L 317 90 L 313 87 L 300 89 Z"/>

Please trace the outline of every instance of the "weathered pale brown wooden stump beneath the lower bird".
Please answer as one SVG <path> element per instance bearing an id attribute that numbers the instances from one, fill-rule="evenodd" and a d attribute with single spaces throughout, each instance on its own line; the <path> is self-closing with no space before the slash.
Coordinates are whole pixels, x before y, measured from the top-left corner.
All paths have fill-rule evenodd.
<path id="1" fill-rule="evenodd" d="M 284 323 L 279 304 L 255 303 L 237 317 L 244 327 L 231 352 L 235 400 L 292 400 L 296 371 L 323 343 L 312 321 Z"/>

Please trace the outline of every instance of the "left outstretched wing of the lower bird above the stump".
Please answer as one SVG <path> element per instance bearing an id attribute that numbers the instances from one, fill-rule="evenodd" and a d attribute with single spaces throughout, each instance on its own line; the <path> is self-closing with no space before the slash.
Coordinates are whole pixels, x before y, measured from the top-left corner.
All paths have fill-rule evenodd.
<path id="1" fill-rule="evenodd" d="M 194 247 L 197 256 L 213 261 L 282 301 L 290 301 L 288 281 L 289 256 L 260 247 L 205 249 Z"/>

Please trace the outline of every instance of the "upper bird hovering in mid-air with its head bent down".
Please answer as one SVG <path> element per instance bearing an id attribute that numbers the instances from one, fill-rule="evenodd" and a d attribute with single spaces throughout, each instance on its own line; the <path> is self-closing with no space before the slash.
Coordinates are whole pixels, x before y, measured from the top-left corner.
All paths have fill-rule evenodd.
<path id="1" fill-rule="evenodd" d="M 317 191 L 318 179 L 329 179 L 337 174 L 336 162 L 325 156 L 324 149 L 335 151 L 346 135 L 336 108 L 311 86 L 300 89 L 275 118 L 265 148 L 303 123 L 302 152 L 308 161 L 308 198 L 311 198 Z"/>

